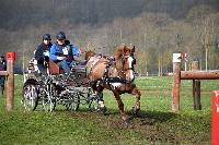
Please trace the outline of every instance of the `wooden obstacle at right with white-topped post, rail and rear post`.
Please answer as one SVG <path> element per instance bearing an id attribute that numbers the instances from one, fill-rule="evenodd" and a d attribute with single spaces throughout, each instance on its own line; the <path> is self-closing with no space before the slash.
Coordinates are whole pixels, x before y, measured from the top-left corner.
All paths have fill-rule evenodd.
<path id="1" fill-rule="evenodd" d="M 197 63 L 197 62 L 194 62 Z M 194 64 L 193 71 L 181 71 L 181 53 L 173 53 L 173 88 L 172 110 L 180 110 L 180 87 L 181 80 L 193 80 L 194 109 L 200 110 L 200 80 L 219 80 L 219 71 L 198 71 Z"/>

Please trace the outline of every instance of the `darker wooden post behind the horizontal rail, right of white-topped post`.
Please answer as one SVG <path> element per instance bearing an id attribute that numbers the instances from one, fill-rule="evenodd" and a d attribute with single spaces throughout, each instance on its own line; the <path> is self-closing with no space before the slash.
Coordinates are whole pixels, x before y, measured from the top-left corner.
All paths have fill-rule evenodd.
<path id="1" fill-rule="evenodd" d="M 198 71 L 199 70 L 199 62 L 193 61 L 192 63 L 192 70 Z M 193 102 L 194 102 L 194 110 L 201 110 L 200 105 L 200 81 L 199 80 L 193 80 Z"/>

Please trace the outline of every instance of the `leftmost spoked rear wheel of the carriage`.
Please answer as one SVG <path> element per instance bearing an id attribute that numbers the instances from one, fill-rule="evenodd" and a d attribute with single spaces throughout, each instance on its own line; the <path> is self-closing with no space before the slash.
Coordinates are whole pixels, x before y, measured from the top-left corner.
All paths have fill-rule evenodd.
<path id="1" fill-rule="evenodd" d="M 22 104 L 25 110 L 35 110 L 38 105 L 38 90 L 34 84 L 24 84 L 22 92 Z"/>

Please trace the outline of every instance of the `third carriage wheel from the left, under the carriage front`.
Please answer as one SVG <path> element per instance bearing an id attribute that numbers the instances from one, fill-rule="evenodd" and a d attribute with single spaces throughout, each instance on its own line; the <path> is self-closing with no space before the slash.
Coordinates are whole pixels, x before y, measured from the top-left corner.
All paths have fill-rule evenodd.
<path id="1" fill-rule="evenodd" d="M 80 96 L 78 94 L 69 95 L 70 102 L 66 105 L 68 111 L 78 111 L 80 105 Z"/>

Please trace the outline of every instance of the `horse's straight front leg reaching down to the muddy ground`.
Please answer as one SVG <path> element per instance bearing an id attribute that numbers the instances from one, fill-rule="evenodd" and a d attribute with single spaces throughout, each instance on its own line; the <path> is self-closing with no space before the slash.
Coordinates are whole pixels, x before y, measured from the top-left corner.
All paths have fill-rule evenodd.
<path id="1" fill-rule="evenodd" d="M 126 114 L 126 112 L 125 112 L 125 110 L 124 110 L 124 104 L 123 104 L 123 101 L 122 101 L 122 99 L 120 99 L 119 94 L 118 94 L 118 93 L 114 93 L 114 96 L 115 96 L 115 98 L 116 98 L 116 100 L 117 100 L 117 104 L 118 104 L 118 109 L 119 109 L 119 111 L 120 111 L 122 120 L 123 120 L 125 123 L 128 123 L 128 118 L 127 118 L 127 114 Z"/>

